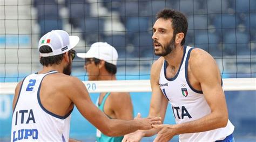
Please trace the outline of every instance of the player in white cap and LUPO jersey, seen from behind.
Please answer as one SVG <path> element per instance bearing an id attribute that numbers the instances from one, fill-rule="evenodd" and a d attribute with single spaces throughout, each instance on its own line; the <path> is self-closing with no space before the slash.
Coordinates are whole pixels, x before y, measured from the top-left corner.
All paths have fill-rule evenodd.
<path id="1" fill-rule="evenodd" d="M 107 136 L 123 136 L 151 129 L 159 117 L 134 120 L 109 119 L 92 103 L 85 85 L 71 77 L 77 36 L 53 30 L 39 40 L 43 70 L 25 77 L 15 89 L 11 141 L 68 141 L 74 105 L 90 123 Z"/>

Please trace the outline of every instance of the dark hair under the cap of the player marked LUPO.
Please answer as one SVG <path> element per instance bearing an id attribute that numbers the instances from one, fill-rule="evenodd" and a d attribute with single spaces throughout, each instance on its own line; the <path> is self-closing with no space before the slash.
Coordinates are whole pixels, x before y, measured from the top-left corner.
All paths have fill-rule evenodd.
<path id="1" fill-rule="evenodd" d="M 48 45 L 43 45 L 39 48 L 40 53 L 50 53 L 52 52 L 52 49 Z M 69 52 L 69 56 L 71 53 Z M 62 59 L 64 57 L 64 53 L 60 55 L 55 55 L 55 56 L 49 56 L 49 57 L 40 57 L 40 63 L 43 66 L 49 66 L 53 64 L 60 64 L 62 62 Z"/>

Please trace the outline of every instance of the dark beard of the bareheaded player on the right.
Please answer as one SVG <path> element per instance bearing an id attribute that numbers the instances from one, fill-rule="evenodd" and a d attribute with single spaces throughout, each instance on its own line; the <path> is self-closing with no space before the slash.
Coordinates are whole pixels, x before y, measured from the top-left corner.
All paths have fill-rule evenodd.
<path id="1" fill-rule="evenodd" d="M 174 44 L 174 40 L 175 40 L 175 36 L 173 36 L 173 38 L 170 40 L 169 43 L 167 43 L 167 46 L 163 46 L 160 43 L 158 43 L 156 40 L 154 40 L 154 43 L 157 43 L 161 46 L 161 48 L 163 49 L 163 52 L 161 53 L 156 53 L 156 50 L 154 51 L 154 55 L 157 56 L 166 56 L 169 55 L 169 53 L 171 53 L 175 48 L 175 44 Z"/>

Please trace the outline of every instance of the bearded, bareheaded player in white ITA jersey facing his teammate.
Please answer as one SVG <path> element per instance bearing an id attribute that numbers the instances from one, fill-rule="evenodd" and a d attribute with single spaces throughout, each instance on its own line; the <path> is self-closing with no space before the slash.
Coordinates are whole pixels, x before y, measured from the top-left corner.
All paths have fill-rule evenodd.
<path id="1" fill-rule="evenodd" d="M 152 98 L 149 116 L 165 117 L 168 102 L 176 125 L 158 125 L 136 131 L 123 141 L 139 141 L 157 134 L 154 141 L 234 141 L 218 66 L 206 51 L 184 45 L 187 19 L 164 9 L 153 26 L 155 55 L 162 56 L 151 69 Z"/>

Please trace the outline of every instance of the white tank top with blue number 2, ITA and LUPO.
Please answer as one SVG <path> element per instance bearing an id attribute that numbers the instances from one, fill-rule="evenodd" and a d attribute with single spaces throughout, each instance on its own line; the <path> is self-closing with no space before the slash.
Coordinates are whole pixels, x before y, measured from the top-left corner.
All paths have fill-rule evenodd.
<path id="1" fill-rule="evenodd" d="M 72 110 L 63 117 L 41 104 L 41 83 L 51 73 L 57 71 L 33 73 L 23 79 L 12 114 L 11 141 L 69 141 Z"/>

